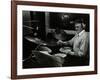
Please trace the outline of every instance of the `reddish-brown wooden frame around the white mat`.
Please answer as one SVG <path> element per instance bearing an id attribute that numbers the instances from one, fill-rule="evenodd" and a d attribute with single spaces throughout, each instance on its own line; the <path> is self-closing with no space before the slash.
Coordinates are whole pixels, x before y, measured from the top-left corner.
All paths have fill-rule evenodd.
<path id="1" fill-rule="evenodd" d="M 94 9 L 94 19 L 95 19 L 94 20 L 94 27 L 95 27 L 94 28 L 94 71 L 17 75 L 17 5 Z M 63 4 L 63 3 L 33 2 L 33 1 L 11 1 L 11 78 L 12 79 L 89 75 L 89 74 L 97 74 L 97 6 L 96 5 Z"/>

